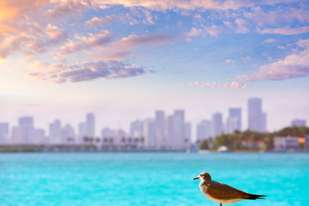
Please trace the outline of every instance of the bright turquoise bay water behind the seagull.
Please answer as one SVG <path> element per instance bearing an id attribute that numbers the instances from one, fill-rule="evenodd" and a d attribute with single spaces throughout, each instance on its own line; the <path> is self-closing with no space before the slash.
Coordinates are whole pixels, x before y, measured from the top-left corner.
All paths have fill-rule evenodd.
<path id="1" fill-rule="evenodd" d="M 0 153 L 0 205 L 204 206 L 201 172 L 266 200 L 309 205 L 308 153 Z"/>

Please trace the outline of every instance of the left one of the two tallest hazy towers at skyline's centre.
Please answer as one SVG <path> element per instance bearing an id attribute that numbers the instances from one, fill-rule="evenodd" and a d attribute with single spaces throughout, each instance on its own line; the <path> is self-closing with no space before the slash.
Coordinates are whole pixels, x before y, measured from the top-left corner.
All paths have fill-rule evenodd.
<path id="1" fill-rule="evenodd" d="M 164 120 L 164 111 L 155 112 L 155 138 L 157 147 L 161 148 L 167 146 L 167 140 L 164 135 L 165 130 L 165 120 Z"/>

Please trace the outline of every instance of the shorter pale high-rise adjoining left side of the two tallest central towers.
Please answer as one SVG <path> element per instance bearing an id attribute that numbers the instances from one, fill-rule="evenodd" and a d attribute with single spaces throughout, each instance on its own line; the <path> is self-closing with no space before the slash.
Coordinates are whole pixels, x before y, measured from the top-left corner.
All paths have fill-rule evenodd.
<path id="1" fill-rule="evenodd" d="M 155 121 L 152 119 L 144 120 L 144 141 L 145 146 L 150 149 L 157 149 L 158 145 L 155 137 Z"/>

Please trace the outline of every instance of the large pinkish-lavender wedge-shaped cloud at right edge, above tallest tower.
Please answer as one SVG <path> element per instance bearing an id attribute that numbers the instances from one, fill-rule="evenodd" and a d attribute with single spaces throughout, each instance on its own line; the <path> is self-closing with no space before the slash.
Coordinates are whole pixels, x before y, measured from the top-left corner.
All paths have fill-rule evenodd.
<path id="1" fill-rule="evenodd" d="M 297 45 L 305 47 L 305 50 L 290 54 L 284 60 L 260 66 L 259 72 L 250 75 L 237 75 L 237 78 L 246 81 L 276 81 L 307 77 L 309 74 L 309 46 L 305 42 L 309 42 L 309 39 L 296 42 Z"/>

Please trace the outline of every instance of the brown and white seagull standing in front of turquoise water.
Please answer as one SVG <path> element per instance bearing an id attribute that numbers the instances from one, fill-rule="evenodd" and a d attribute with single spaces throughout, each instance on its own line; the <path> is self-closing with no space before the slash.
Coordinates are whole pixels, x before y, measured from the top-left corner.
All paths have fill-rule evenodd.
<path id="1" fill-rule="evenodd" d="M 235 202 L 239 202 L 241 200 L 265 199 L 260 197 L 267 197 L 265 195 L 249 194 L 229 185 L 212 181 L 210 174 L 207 172 L 202 172 L 193 180 L 195 179 L 201 179 L 200 189 L 203 195 L 208 200 L 220 203 L 220 206 L 222 206 L 222 204 L 234 204 Z"/>

